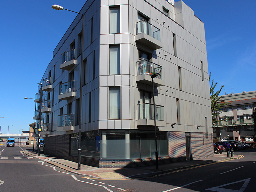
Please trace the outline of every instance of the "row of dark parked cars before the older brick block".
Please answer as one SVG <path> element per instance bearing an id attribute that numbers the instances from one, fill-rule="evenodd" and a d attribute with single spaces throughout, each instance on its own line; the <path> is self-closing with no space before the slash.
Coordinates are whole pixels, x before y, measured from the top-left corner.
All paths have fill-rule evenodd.
<path id="1" fill-rule="evenodd" d="M 230 150 L 242 150 L 242 149 L 247 149 L 247 148 L 251 148 L 250 144 L 241 142 L 241 141 L 218 141 L 216 143 L 214 143 L 214 147 L 216 146 L 216 144 L 219 145 L 219 148 L 221 148 L 222 151 L 228 151 Z"/>

